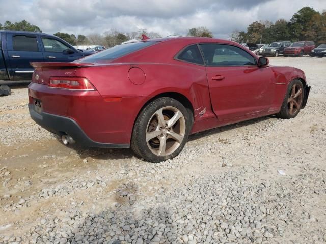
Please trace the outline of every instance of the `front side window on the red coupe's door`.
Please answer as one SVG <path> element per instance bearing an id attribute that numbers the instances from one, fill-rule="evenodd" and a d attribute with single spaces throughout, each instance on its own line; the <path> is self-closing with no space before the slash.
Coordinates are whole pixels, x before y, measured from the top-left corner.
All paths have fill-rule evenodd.
<path id="1" fill-rule="evenodd" d="M 256 65 L 256 59 L 239 47 L 225 44 L 200 44 L 209 66 Z"/>

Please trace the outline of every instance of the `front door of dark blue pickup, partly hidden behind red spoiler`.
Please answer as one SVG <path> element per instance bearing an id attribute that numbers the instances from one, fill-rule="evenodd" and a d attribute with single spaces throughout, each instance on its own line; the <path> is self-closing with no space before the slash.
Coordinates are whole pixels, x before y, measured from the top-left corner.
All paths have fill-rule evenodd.
<path id="1" fill-rule="evenodd" d="M 66 43 L 48 36 L 41 36 L 43 55 L 47 62 L 72 62 L 82 57 Z"/>

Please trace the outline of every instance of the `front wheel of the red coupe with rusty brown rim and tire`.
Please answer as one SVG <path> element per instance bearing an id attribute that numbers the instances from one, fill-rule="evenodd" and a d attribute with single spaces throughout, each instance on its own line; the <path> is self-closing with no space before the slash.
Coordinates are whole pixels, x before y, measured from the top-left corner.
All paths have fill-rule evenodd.
<path id="1" fill-rule="evenodd" d="M 304 86 L 301 80 L 290 82 L 285 94 L 281 110 L 276 114 L 279 118 L 294 118 L 300 111 L 304 101 Z"/>

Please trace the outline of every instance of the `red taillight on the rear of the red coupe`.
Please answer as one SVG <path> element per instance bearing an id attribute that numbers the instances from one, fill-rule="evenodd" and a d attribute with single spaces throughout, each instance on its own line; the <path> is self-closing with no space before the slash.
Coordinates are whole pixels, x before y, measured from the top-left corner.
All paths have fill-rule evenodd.
<path id="1" fill-rule="evenodd" d="M 95 87 L 85 77 L 50 77 L 49 86 L 70 90 L 95 90 Z"/>

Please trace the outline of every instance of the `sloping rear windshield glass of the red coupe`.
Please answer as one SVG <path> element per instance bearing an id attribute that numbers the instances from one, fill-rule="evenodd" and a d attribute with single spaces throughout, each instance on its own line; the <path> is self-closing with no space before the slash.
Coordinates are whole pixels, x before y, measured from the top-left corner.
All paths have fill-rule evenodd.
<path id="1" fill-rule="evenodd" d="M 80 59 L 79 62 L 101 62 L 107 60 L 113 60 L 124 55 L 127 55 L 131 52 L 140 50 L 142 48 L 156 44 L 154 41 L 146 42 L 131 42 L 126 44 L 117 45 L 108 49 L 105 49 L 101 52 L 93 54 L 91 56 Z"/>

